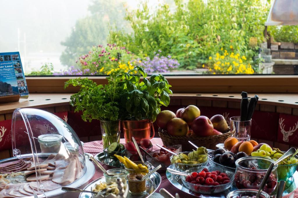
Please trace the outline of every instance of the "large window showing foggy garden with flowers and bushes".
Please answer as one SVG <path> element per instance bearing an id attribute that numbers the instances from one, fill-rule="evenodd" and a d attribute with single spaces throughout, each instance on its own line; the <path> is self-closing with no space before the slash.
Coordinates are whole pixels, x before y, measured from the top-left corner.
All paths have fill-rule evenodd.
<path id="1" fill-rule="evenodd" d="M 20 51 L 27 75 L 108 75 L 136 65 L 169 75 L 298 73 L 298 27 L 265 28 L 267 0 L 11 0 L 1 7 L 0 51 Z"/>

